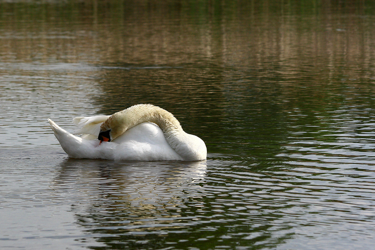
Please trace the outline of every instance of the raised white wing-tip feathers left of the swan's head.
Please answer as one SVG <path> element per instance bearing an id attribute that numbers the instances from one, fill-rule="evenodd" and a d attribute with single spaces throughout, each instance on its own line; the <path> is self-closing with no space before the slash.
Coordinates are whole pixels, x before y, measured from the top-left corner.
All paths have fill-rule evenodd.
<path id="1" fill-rule="evenodd" d="M 77 131 L 74 132 L 75 135 L 81 135 L 83 134 L 84 139 L 87 140 L 93 140 L 97 139 L 99 132 L 100 132 L 100 126 L 102 123 L 104 123 L 105 120 L 110 117 L 109 115 L 96 115 L 96 116 L 90 116 L 90 117 L 76 117 L 73 119 L 73 123 L 80 127 Z"/>

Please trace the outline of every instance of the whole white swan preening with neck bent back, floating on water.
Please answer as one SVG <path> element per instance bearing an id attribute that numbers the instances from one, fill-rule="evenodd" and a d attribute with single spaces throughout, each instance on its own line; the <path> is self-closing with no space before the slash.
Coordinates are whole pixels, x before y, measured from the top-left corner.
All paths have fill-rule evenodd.
<path id="1" fill-rule="evenodd" d="M 151 104 L 131 106 L 113 115 L 76 117 L 75 136 L 48 118 L 63 150 L 73 158 L 109 160 L 198 161 L 207 148 L 198 136 L 183 131 L 168 111 Z"/>

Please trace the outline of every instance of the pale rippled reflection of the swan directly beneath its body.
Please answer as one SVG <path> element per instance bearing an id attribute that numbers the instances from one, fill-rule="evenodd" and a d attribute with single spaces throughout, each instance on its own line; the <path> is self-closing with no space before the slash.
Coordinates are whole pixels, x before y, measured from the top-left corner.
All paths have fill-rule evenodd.
<path id="1" fill-rule="evenodd" d="M 202 208 L 206 161 L 114 162 L 68 159 L 54 189 L 74 199 L 72 210 L 93 233 L 118 235 L 162 233 L 188 226 L 194 219 L 182 210 Z M 187 205 L 189 201 L 189 205 Z M 190 209 L 190 208 L 189 208 Z M 92 231 L 93 230 L 93 231 Z M 113 235 L 113 236 L 114 236 Z"/>

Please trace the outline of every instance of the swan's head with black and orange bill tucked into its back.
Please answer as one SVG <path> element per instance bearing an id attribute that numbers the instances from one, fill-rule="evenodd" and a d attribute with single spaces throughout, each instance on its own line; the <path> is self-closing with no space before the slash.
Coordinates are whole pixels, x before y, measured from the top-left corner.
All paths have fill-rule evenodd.
<path id="1" fill-rule="evenodd" d="M 108 119 L 102 123 L 100 126 L 100 132 L 98 135 L 98 140 L 100 142 L 106 141 L 110 142 L 115 139 L 117 136 L 121 135 L 124 132 L 124 117 L 118 115 L 118 112 L 108 117 Z M 125 129 L 126 130 L 126 129 Z"/>

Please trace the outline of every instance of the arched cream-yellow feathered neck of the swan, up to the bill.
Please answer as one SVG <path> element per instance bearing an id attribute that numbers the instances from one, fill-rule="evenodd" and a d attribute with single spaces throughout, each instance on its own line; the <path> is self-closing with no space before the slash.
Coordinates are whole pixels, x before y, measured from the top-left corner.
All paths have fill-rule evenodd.
<path id="1" fill-rule="evenodd" d="M 111 130 L 111 140 L 138 124 L 150 122 L 163 130 L 168 141 L 177 131 L 183 131 L 178 120 L 165 109 L 151 104 L 138 104 L 111 115 L 101 126 L 101 131 Z"/>

